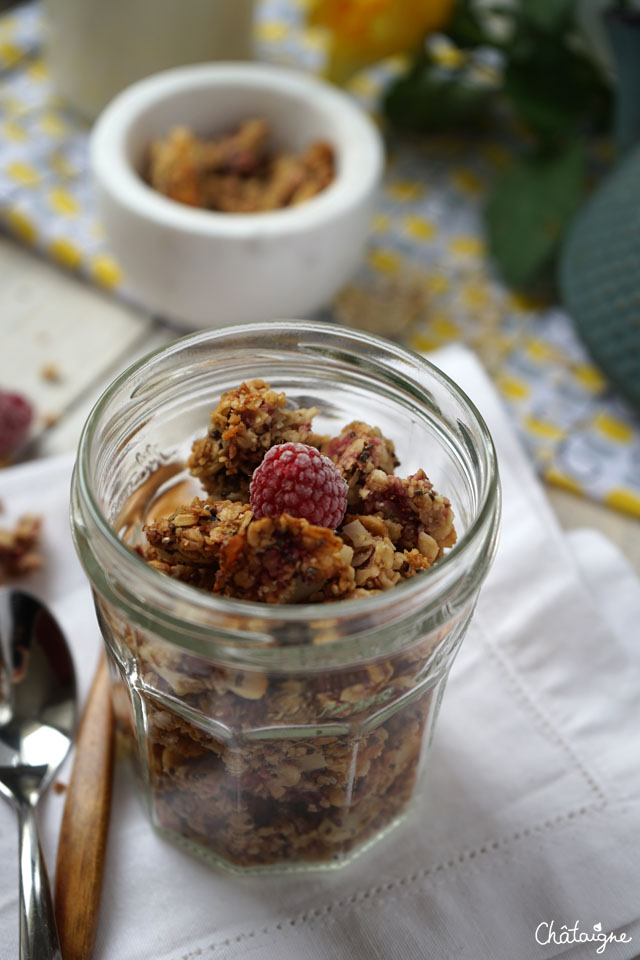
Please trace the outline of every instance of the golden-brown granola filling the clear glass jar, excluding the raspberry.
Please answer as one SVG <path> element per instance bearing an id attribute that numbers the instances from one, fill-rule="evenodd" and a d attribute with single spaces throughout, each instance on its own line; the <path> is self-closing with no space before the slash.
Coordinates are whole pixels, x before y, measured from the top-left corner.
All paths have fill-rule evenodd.
<path id="1" fill-rule="evenodd" d="M 395 475 L 393 443 L 377 428 L 354 421 L 320 437 L 316 413 L 289 408 L 260 380 L 226 393 L 188 462 L 209 495 L 146 525 L 147 563 L 200 589 L 280 604 L 366 598 L 429 569 L 455 542 L 449 501 L 421 470 Z M 347 481 L 336 531 L 288 514 L 254 519 L 252 472 L 289 440 L 320 449 Z M 245 659 L 238 669 L 98 604 L 112 648 L 135 662 L 138 705 L 116 702 L 133 748 L 143 744 L 160 827 L 257 868 L 337 860 L 404 812 L 444 683 L 425 665 L 459 624 L 344 667 L 271 670 Z"/>

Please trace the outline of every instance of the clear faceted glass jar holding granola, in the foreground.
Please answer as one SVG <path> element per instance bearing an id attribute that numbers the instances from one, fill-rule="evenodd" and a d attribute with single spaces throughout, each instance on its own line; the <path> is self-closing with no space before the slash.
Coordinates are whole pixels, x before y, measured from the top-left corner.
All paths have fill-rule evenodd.
<path id="1" fill-rule="evenodd" d="M 380 427 L 423 467 L 458 542 L 390 590 L 269 605 L 173 580 L 135 552 L 145 519 L 197 493 L 184 468 L 220 395 L 260 378 L 314 430 Z M 122 374 L 85 426 L 72 487 L 116 713 L 152 822 L 232 868 L 345 863 L 406 813 L 495 551 L 495 453 L 477 410 L 416 354 L 277 321 L 186 337 Z M 435 813 L 432 815 L 436 815 Z"/>

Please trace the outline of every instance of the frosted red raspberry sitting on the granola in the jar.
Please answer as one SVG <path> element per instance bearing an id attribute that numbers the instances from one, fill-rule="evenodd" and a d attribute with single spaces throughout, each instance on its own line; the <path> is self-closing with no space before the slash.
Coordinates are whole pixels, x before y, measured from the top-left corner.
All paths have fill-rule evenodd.
<path id="1" fill-rule="evenodd" d="M 267 451 L 249 488 L 256 520 L 288 513 L 335 530 L 347 509 L 347 484 L 337 467 L 306 443 Z"/>

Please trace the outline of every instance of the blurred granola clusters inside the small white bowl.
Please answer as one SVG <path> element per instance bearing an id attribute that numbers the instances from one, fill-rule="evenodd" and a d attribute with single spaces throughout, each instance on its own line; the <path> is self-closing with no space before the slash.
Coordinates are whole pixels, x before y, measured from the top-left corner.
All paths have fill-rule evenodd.
<path id="1" fill-rule="evenodd" d="M 329 186 L 335 176 L 333 148 L 312 143 L 296 155 L 269 148 L 265 120 L 201 140 L 175 127 L 149 147 L 147 179 L 171 200 L 224 213 L 259 213 L 294 206 Z"/>

